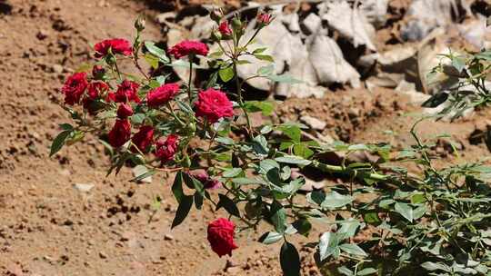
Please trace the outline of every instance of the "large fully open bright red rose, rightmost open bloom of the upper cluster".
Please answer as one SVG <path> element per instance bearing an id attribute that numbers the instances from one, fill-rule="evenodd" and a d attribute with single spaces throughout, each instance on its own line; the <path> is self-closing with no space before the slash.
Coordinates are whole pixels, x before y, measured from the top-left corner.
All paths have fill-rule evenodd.
<path id="1" fill-rule="evenodd" d="M 213 88 L 201 91 L 195 106 L 196 116 L 205 117 L 210 123 L 234 115 L 234 106 L 226 94 Z"/>

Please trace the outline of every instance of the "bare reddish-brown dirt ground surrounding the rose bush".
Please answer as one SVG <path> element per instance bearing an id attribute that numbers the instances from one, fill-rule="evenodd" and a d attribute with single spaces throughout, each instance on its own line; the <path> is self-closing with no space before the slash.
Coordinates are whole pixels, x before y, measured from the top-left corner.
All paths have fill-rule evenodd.
<path id="1" fill-rule="evenodd" d="M 160 175 L 140 185 L 128 182 L 132 175 L 126 168 L 105 178 L 108 160 L 94 137 L 48 158 L 58 123 L 68 120 L 57 92 L 65 75 L 90 61 L 91 44 L 110 36 L 131 37 L 132 22 L 145 6 L 120 0 L 7 2 L 11 11 L 0 1 L 0 273 L 280 275 L 278 245 L 261 245 L 254 232 L 240 235 L 233 258 L 216 257 L 205 240 L 206 222 L 215 217 L 208 205 L 171 232 L 176 209 L 172 177 Z M 145 37 L 161 36 L 159 27 L 148 23 Z M 390 91 L 368 100 L 360 97 L 364 94 L 340 91 L 320 101 L 292 99 L 280 114 L 292 120 L 300 113 L 316 114 L 330 123 L 326 133 L 354 142 L 411 143 L 406 133 L 414 118 L 403 114 L 412 109 Z M 356 116 L 350 115 L 353 109 Z M 456 134 L 465 150 L 459 160 L 447 160 L 476 160 L 488 155 L 486 147 L 471 145 L 467 138 L 487 118 L 489 113 L 476 113 L 454 124 L 426 123 L 421 130 Z M 386 130 L 396 135 L 388 137 Z M 94 183 L 95 188 L 77 192 L 74 183 Z M 150 202 L 156 195 L 163 202 L 154 212 Z M 311 252 L 302 249 L 302 255 L 304 274 L 319 275 Z"/>

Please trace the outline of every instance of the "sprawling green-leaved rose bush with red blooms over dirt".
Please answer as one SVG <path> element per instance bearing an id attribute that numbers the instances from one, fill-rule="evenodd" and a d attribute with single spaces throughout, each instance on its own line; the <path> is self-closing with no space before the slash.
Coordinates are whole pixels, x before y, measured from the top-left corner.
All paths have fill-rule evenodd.
<path id="1" fill-rule="evenodd" d="M 394 150 L 387 143 L 322 144 L 310 141 L 300 123 L 268 122 L 254 126 L 250 113 L 265 116 L 271 102 L 246 101 L 237 67 L 244 57 L 272 62 L 267 49 L 255 47 L 256 35 L 274 19 L 256 17 L 256 29 L 246 33 L 237 15 L 231 22 L 216 11 L 211 39 L 214 53 L 198 41 L 184 41 L 167 53 L 187 58 L 186 83 L 168 83 L 158 74 L 165 66 L 182 66 L 150 41 L 142 42 L 142 19 L 135 23 L 133 44 L 124 39 L 95 45 L 97 62 L 92 74 L 68 76 L 62 93 L 65 110 L 75 125 L 64 123 L 51 155 L 69 142 L 83 141 L 85 133 L 101 137 L 118 173 L 126 163 L 143 165 L 139 181 L 154 173 L 175 173 L 170 187 L 179 203 L 172 227 L 184 222 L 204 202 L 224 209 L 227 218 L 210 222 L 211 249 L 219 256 L 240 250 L 235 232 L 270 230 L 259 242 L 283 242 L 280 264 L 286 275 L 300 274 L 300 258 L 291 236 L 320 238 L 316 262 L 326 275 L 456 275 L 488 273 L 491 263 L 491 192 L 482 163 L 436 169 L 432 142 L 421 139 L 415 124 L 416 144 Z M 141 56 L 152 70 L 140 64 Z M 193 86 L 195 58 L 207 62 L 210 78 Z M 129 61 L 141 75 L 122 72 Z M 181 62 L 181 63 L 179 63 Z M 256 76 L 272 82 L 297 82 L 273 74 L 274 65 L 259 68 Z M 226 90 L 234 83 L 235 90 Z M 229 86 L 228 86 L 229 87 Z M 80 106 L 80 104 L 82 106 Z M 191 143 L 199 140 L 201 146 Z M 324 163 L 328 153 L 376 154 L 376 163 Z M 400 163 L 416 163 L 420 173 L 408 173 Z M 309 168 L 335 175 L 343 182 L 329 191 L 303 196 L 306 180 L 295 170 Z M 371 200 L 366 200 L 369 195 Z M 316 225 L 312 222 L 316 221 Z M 237 227 L 235 227 L 235 224 Z"/>

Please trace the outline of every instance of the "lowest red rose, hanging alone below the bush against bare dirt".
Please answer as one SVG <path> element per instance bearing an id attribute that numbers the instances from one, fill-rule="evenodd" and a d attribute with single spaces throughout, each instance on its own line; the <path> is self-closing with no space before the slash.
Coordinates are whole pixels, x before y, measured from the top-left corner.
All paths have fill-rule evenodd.
<path id="1" fill-rule="evenodd" d="M 238 248 L 234 242 L 234 231 L 234 222 L 227 219 L 217 219 L 208 224 L 208 242 L 218 256 L 232 256 L 232 251 Z"/>

